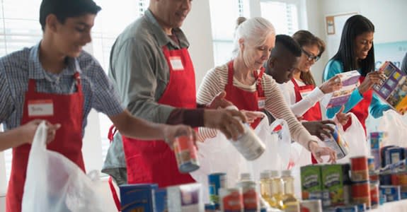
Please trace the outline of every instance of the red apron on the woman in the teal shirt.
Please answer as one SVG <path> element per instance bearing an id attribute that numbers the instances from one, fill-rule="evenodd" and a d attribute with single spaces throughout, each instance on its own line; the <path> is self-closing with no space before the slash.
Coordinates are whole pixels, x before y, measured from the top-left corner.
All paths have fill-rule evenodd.
<path id="1" fill-rule="evenodd" d="M 359 83 L 362 83 L 363 80 L 365 80 L 365 76 L 361 76 L 359 78 Z M 357 119 L 359 119 L 360 124 L 362 124 L 363 129 L 365 129 L 365 134 L 366 134 L 366 126 L 365 126 L 365 121 L 367 117 L 369 116 L 369 106 L 370 103 L 372 102 L 373 98 L 373 90 L 369 89 L 365 93 L 363 93 L 363 99 L 355 105 L 355 107 L 352 107 L 352 109 L 349 112 L 352 112 L 353 114 L 356 115 Z M 351 120 L 349 120 L 348 123 L 343 126 L 343 129 L 346 130 L 348 127 L 352 124 Z"/>

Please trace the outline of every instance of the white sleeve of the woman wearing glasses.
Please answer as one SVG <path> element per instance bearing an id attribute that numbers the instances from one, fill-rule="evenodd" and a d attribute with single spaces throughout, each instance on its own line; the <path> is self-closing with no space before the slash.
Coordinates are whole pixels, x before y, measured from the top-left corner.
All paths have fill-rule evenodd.
<path id="1" fill-rule="evenodd" d="M 309 108 L 313 107 L 316 102 L 321 100 L 321 98 L 323 98 L 323 95 L 324 94 L 322 90 L 316 87 L 314 88 L 314 90 L 311 91 L 311 93 L 309 93 L 309 95 L 306 95 L 304 99 L 294 103 L 293 105 L 290 105 L 290 108 L 297 117 L 301 117 L 305 112 L 309 110 Z"/>

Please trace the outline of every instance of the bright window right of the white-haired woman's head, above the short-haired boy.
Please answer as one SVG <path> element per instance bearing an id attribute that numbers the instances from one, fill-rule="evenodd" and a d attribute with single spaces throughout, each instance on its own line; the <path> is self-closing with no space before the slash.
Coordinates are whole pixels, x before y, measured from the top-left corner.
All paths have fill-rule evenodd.
<path id="1" fill-rule="evenodd" d="M 261 16 L 275 27 L 277 34 L 292 35 L 299 30 L 298 4 L 292 1 L 260 1 Z"/>

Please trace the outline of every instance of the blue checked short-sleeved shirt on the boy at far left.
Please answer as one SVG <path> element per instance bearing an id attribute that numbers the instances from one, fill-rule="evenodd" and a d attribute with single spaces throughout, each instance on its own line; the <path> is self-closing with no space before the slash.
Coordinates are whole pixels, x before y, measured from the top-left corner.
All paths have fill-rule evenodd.
<path id="1" fill-rule="evenodd" d="M 124 111 L 113 83 L 91 54 L 81 52 L 75 59 L 68 58 L 67 67 L 61 73 L 54 74 L 42 69 L 39 48 L 40 44 L 0 58 L 0 122 L 5 129 L 13 129 L 21 124 L 28 79 L 35 79 L 38 92 L 69 94 L 76 92 L 76 71 L 81 75 L 84 94 L 83 135 L 86 117 L 92 108 L 108 116 Z M 76 70 L 76 62 L 79 70 Z M 58 108 L 55 110 L 56 113 L 63 112 Z"/>

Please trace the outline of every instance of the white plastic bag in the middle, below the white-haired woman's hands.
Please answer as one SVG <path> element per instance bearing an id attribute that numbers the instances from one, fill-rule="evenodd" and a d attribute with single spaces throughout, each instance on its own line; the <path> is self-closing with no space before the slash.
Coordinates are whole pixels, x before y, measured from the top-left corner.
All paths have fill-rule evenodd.
<path id="1" fill-rule="evenodd" d="M 273 134 L 273 129 L 282 124 L 280 137 Z M 250 172 L 254 180 L 258 180 L 260 172 L 267 169 L 282 170 L 287 167 L 290 155 L 291 136 L 287 122 L 277 119 L 270 126 L 265 116 L 254 130 L 265 143 L 266 150 L 260 158 L 248 161 L 233 146 L 224 134 L 217 133 L 212 139 L 198 142 L 198 160 L 200 168 L 190 175 L 202 184 L 204 201 L 208 202 L 207 175 L 215 172 L 227 174 L 227 186 L 234 187 L 239 181 L 240 174 Z"/>

